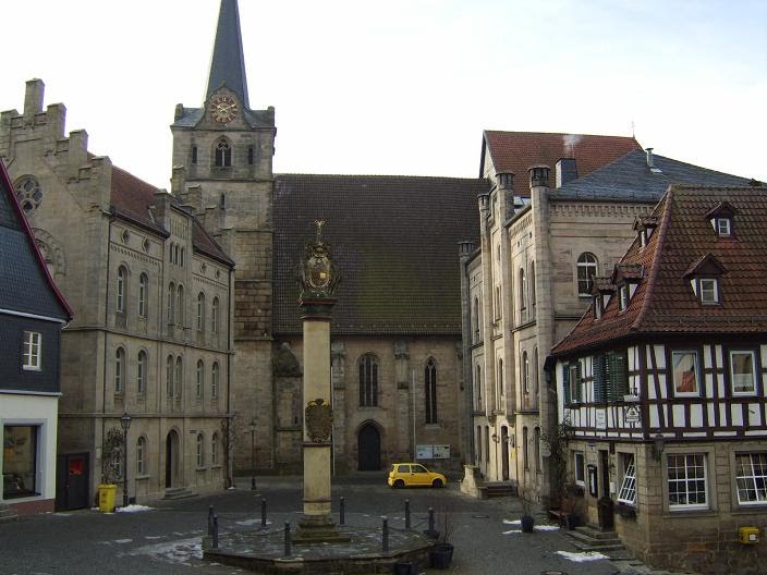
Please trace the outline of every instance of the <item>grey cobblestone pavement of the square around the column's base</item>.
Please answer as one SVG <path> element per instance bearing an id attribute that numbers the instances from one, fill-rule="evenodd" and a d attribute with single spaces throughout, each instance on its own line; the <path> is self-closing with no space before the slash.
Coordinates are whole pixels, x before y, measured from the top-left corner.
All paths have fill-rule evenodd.
<path id="1" fill-rule="evenodd" d="M 202 537 L 208 506 L 214 505 L 222 531 L 260 525 L 261 499 L 268 521 L 293 525 L 301 516 L 302 482 L 297 477 L 258 478 L 251 491 L 243 488 L 178 501 L 143 502 L 151 511 L 101 514 L 93 510 L 24 516 L 0 524 L 0 574 L 211 574 L 244 572 L 202 560 Z M 670 575 L 637 562 L 607 560 L 575 562 L 560 551 L 577 553 L 558 530 L 519 533 L 513 522 L 521 505 L 513 498 L 477 501 L 460 493 L 453 482 L 446 489 L 391 490 L 384 475 L 355 474 L 333 481 L 333 512 L 345 500 L 346 524 L 380 525 L 386 515 L 393 528 L 404 526 L 404 500 L 412 509 L 413 527 L 427 528 L 427 510 L 447 512 L 455 550 L 451 574 L 563 573 L 567 575 Z M 579 555 L 574 555 L 577 558 Z M 422 570 L 429 575 L 436 570 Z"/>

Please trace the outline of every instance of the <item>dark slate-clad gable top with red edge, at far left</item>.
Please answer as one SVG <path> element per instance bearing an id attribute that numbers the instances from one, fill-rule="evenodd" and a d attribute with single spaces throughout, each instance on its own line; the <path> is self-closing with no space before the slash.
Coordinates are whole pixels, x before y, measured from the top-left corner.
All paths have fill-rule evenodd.
<path id="1" fill-rule="evenodd" d="M 2 161 L 0 257 L 0 309 L 72 319 L 72 308 L 48 272 Z"/>

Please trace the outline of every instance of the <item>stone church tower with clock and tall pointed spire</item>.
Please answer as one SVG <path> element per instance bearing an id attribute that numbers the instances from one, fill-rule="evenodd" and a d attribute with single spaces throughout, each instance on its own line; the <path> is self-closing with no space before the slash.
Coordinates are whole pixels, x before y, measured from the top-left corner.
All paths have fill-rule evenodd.
<path id="1" fill-rule="evenodd" d="M 272 326 L 272 157 L 275 109 L 252 110 L 236 0 L 221 0 L 205 101 L 178 105 L 172 192 L 234 259 L 233 345 L 228 370 L 234 469 L 270 468 Z"/>

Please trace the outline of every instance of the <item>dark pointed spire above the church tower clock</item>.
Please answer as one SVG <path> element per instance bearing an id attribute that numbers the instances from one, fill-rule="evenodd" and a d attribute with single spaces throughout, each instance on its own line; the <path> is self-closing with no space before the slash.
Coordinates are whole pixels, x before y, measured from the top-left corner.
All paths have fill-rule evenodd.
<path id="1" fill-rule="evenodd" d="M 238 0 L 221 0 L 206 98 L 221 85 L 233 90 L 242 99 L 243 106 L 249 108 Z"/>

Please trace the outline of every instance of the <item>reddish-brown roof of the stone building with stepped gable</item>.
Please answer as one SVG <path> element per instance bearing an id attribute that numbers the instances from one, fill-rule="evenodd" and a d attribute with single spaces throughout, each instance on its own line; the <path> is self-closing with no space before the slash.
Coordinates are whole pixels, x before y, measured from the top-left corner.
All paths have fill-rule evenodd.
<path id="1" fill-rule="evenodd" d="M 157 201 L 155 195 L 160 192 L 159 188 L 117 166 L 112 167 L 111 184 L 110 200 L 112 204 L 112 212 L 115 216 L 130 220 L 163 237 L 168 237 L 169 232 L 160 222 L 155 220 L 149 209 L 149 207 L 154 206 Z M 170 203 L 181 209 L 180 201 L 174 196 L 170 196 Z M 192 244 L 195 250 L 227 265 L 233 265 L 231 258 L 223 253 L 221 247 L 203 229 L 203 225 L 194 216 L 192 217 Z"/>

